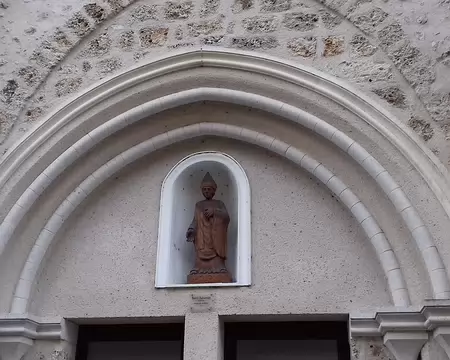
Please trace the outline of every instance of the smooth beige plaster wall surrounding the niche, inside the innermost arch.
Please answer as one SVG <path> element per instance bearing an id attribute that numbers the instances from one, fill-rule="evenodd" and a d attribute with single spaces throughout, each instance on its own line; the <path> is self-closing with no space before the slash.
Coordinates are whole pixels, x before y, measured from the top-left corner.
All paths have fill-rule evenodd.
<path id="1" fill-rule="evenodd" d="M 154 289 L 160 184 L 181 157 L 211 147 L 242 164 L 253 196 L 253 285 L 199 290 L 215 294 L 216 311 L 347 312 L 389 305 L 370 244 L 331 194 L 264 151 L 205 139 L 146 158 L 99 189 L 61 234 L 31 311 L 183 315 L 192 290 Z"/>

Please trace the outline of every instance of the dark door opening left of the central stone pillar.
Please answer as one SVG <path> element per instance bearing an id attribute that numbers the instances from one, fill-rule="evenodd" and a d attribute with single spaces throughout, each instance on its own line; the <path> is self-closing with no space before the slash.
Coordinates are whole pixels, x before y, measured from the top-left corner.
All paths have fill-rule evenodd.
<path id="1" fill-rule="evenodd" d="M 183 359 L 184 324 L 80 325 L 76 360 Z"/>

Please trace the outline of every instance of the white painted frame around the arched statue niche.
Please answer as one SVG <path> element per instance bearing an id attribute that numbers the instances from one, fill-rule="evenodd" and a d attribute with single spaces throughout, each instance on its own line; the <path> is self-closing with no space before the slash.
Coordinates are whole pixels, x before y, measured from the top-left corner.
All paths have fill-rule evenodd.
<path id="1" fill-rule="evenodd" d="M 187 275 L 174 274 L 176 271 L 176 260 L 180 259 L 180 241 L 186 242 L 185 239 L 174 239 L 174 210 L 175 195 L 177 187 L 180 186 L 179 179 L 189 169 L 195 166 L 205 164 L 214 164 L 228 172 L 228 177 L 233 183 L 237 194 L 237 226 L 235 234 L 236 238 L 236 258 L 234 259 L 234 273 L 232 273 L 234 282 L 232 283 L 210 283 L 210 284 L 187 284 Z M 213 175 L 214 177 L 214 175 Z M 179 189 L 178 189 L 179 191 Z M 220 188 L 218 189 L 218 193 Z M 198 194 L 201 197 L 200 183 L 198 183 Z M 178 204 L 177 204 L 178 205 Z M 195 203 L 190 204 L 189 213 L 191 219 L 193 216 Z M 158 250 L 156 258 L 156 288 L 183 288 L 183 287 L 230 287 L 230 286 L 250 286 L 251 285 L 251 193 L 250 183 L 242 166 L 230 155 L 217 151 L 202 151 L 191 154 L 179 161 L 165 177 L 161 188 L 161 203 L 159 213 L 158 228 Z M 183 226 L 183 225 L 180 225 Z M 187 230 L 184 229 L 184 232 Z M 180 232 L 179 230 L 177 231 Z M 187 243 L 192 247 L 193 244 Z M 182 245 L 184 246 L 184 245 Z M 182 260 L 182 259 L 181 259 Z M 184 276 L 184 281 L 180 280 L 180 276 Z M 178 281 L 174 278 L 178 276 Z"/>

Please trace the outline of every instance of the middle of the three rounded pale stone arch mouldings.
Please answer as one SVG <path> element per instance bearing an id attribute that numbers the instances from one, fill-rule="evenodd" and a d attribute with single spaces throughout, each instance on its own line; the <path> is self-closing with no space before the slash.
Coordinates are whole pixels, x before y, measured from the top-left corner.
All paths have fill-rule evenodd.
<path id="1" fill-rule="evenodd" d="M 410 203 L 400 186 L 396 184 L 394 179 L 381 166 L 381 164 L 379 164 L 376 159 L 374 159 L 354 140 L 323 120 L 291 105 L 259 95 L 230 89 L 199 88 L 186 90 L 165 96 L 161 99 L 150 101 L 113 118 L 112 120 L 100 125 L 89 134 L 86 134 L 73 145 L 73 148 L 78 153 L 78 156 L 82 156 L 97 142 L 112 134 L 112 129 L 122 129 L 127 125 L 149 115 L 155 114 L 162 109 L 169 109 L 182 104 L 196 102 L 200 99 L 223 101 L 255 108 L 262 108 L 300 125 L 312 128 L 313 130 L 327 128 L 327 131 L 319 130 L 320 133 L 318 134 L 327 136 L 327 140 L 333 142 L 342 150 L 346 151 L 347 154 L 349 154 L 358 164 L 360 164 L 375 179 L 388 198 L 392 201 L 397 212 L 404 219 L 407 228 L 416 242 L 422 259 L 424 259 L 424 265 L 431 281 L 434 298 L 450 298 L 450 283 L 440 254 L 430 233 L 428 232 L 428 229 L 423 225 L 420 215 Z M 163 142 L 166 140 L 167 139 L 163 138 L 159 139 L 159 141 Z M 249 139 L 251 143 L 254 143 L 255 140 L 256 139 Z M 56 178 L 58 174 L 60 174 L 67 166 L 69 166 L 71 162 L 75 160 L 73 148 L 66 150 L 59 158 L 50 164 L 47 169 L 44 170 L 41 176 L 36 178 L 36 180 L 30 185 L 30 188 L 33 189 L 34 193 L 25 192 L 17 201 L 22 204 L 22 206 L 14 206 L 7 214 L 4 222 L 0 224 L 0 256 L 6 247 L 6 244 L 12 237 L 14 229 L 18 226 L 20 220 L 25 215 L 26 210 L 29 209 L 36 200 L 36 196 L 33 195 L 36 193 L 36 189 L 45 189 L 51 183 L 49 179 Z M 286 154 L 288 155 L 288 152 L 286 152 Z M 80 189 L 80 191 L 82 190 Z M 68 201 L 71 202 L 70 199 L 68 199 Z M 403 211 L 406 209 L 409 209 L 408 212 Z M 368 226 L 371 222 L 366 221 L 365 224 Z M 375 231 L 376 229 L 371 228 L 370 230 Z M 376 233 L 373 235 L 376 235 Z M 427 251 L 426 254 L 424 253 L 425 251 Z M 427 261 L 425 261 L 425 258 Z M 433 270 L 430 268 L 430 264 L 433 263 L 439 264 L 438 270 Z"/>

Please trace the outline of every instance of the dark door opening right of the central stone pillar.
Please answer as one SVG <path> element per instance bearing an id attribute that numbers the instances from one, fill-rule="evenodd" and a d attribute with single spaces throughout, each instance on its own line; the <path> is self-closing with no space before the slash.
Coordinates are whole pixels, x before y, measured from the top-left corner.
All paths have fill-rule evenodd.
<path id="1" fill-rule="evenodd" d="M 225 360 L 350 360 L 346 321 L 230 322 Z"/>

